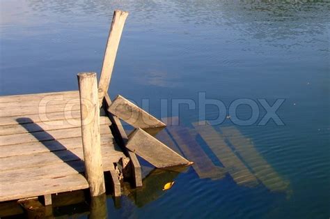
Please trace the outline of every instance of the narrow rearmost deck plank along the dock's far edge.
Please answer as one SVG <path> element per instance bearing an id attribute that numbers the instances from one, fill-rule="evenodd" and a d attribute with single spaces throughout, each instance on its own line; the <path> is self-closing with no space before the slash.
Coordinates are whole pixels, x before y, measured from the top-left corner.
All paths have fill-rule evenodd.
<path id="1" fill-rule="evenodd" d="M 11 103 L 11 102 L 30 102 L 32 100 L 42 100 L 47 96 L 63 96 L 72 97 L 72 96 L 79 96 L 78 91 L 60 91 L 60 92 L 49 92 L 49 93 L 30 93 L 30 94 L 22 94 L 22 95 L 12 95 L 12 96 L 0 96 L 0 103 Z"/>

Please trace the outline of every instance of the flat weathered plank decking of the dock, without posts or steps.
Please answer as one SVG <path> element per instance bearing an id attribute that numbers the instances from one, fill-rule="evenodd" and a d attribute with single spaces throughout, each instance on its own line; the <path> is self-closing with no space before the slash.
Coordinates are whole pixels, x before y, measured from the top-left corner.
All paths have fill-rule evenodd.
<path id="1" fill-rule="evenodd" d="M 85 167 L 77 98 L 78 91 L 0 97 L 0 202 L 88 188 L 81 175 Z M 49 105 L 42 103 L 46 99 Z M 112 171 L 113 163 L 125 157 L 109 126 L 101 109 L 104 171 Z"/>

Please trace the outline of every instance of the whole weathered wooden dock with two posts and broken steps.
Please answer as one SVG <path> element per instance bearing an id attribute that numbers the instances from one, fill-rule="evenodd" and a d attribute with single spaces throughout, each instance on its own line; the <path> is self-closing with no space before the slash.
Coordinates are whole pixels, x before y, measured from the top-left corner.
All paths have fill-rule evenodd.
<path id="1" fill-rule="evenodd" d="M 127 15 L 113 13 L 98 85 L 96 73 L 79 73 L 79 91 L 0 97 L 0 202 L 43 197 L 47 206 L 54 194 L 86 188 L 99 196 L 106 188 L 104 172 L 118 197 L 124 179 L 142 186 L 136 153 L 159 167 L 191 164 L 141 129 L 165 126 L 162 121 L 122 96 L 112 102 L 108 95 Z M 132 137 L 120 119 L 136 128 Z"/>

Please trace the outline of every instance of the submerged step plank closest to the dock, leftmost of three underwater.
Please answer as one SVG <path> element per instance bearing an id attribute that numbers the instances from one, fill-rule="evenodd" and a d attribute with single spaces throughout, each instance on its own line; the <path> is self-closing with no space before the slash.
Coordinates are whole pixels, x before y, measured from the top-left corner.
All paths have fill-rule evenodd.
<path id="1" fill-rule="evenodd" d="M 173 118 L 167 118 L 168 120 L 173 120 Z M 195 137 L 191 136 L 187 128 L 182 126 L 168 126 L 166 130 L 168 130 L 168 133 L 180 147 L 184 156 L 194 162 L 192 167 L 201 179 L 221 179 L 226 175 L 223 167 L 218 167 L 212 163 L 212 160 L 210 160 L 198 142 L 196 142 Z"/>

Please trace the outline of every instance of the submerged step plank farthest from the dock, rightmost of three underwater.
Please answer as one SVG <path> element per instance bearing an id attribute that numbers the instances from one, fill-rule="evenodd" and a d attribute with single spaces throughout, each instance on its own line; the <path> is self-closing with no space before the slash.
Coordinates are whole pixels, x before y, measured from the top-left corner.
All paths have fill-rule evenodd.
<path id="1" fill-rule="evenodd" d="M 262 158 L 251 140 L 244 137 L 235 127 L 222 127 L 223 136 L 228 139 L 242 159 L 256 174 L 257 178 L 272 191 L 288 190 L 289 183 L 284 181 L 274 168 Z"/>

